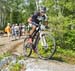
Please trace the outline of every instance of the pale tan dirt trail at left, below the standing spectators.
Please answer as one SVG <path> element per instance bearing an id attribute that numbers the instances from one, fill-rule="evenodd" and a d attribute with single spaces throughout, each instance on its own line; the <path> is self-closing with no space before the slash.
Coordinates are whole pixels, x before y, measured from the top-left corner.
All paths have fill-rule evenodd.
<path id="1" fill-rule="evenodd" d="M 7 51 L 13 51 L 16 47 L 23 43 L 23 38 L 19 40 L 8 40 L 7 37 L 0 38 L 0 55 L 6 53 Z"/>

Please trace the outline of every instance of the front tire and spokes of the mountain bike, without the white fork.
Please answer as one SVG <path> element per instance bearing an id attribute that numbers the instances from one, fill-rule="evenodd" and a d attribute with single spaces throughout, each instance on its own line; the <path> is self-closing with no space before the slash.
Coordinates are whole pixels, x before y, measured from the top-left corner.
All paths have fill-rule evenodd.
<path id="1" fill-rule="evenodd" d="M 41 59 L 50 59 L 52 58 L 52 56 L 54 55 L 55 51 L 56 51 L 56 44 L 55 44 L 55 39 L 54 37 L 48 33 L 48 32 L 44 32 L 41 34 L 42 37 L 47 37 L 46 39 L 46 42 L 48 40 L 47 43 L 48 44 L 48 48 L 46 48 L 45 46 L 41 46 L 41 39 L 38 41 L 38 45 L 37 45 L 37 50 L 38 50 L 38 56 L 41 58 Z M 45 36 L 46 35 L 46 36 Z M 44 40 L 44 39 L 43 39 Z M 50 44 L 51 43 L 51 44 Z M 46 48 L 46 49 L 45 49 Z"/>

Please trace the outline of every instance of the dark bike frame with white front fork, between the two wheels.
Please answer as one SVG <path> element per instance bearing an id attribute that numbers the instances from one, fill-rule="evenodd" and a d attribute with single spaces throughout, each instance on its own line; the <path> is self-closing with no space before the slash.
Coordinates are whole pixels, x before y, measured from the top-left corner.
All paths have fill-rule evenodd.
<path id="1" fill-rule="evenodd" d="M 35 48 L 36 48 L 36 46 L 37 46 L 39 40 L 41 40 L 42 46 L 46 46 L 46 47 L 48 46 L 47 43 L 46 43 L 45 37 L 42 36 L 43 30 L 41 29 L 40 26 L 41 26 L 41 25 L 39 25 L 39 26 L 36 28 L 36 30 L 35 30 L 35 32 L 33 33 L 33 36 L 32 36 L 33 45 L 35 46 Z M 43 25 L 43 26 L 44 26 L 44 25 Z M 45 28 L 44 28 L 44 30 L 45 30 Z M 35 39 L 35 41 L 34 41 L 34 39 Z"/>

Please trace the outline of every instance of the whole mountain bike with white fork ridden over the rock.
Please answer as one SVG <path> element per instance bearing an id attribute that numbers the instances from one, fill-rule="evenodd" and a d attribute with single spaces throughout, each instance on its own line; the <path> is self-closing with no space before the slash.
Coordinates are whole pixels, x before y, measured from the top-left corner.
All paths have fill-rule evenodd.
<path id="1" fill-rule="evenodd" d="M 49 59 L 56 51 L 55 38 L 40 24 L 32 35 L 32 43 L 29 43 L 29 36 L 25 37 L 23 44 L 24 56 L 29 57 L 34 50 L 39 58 Z"/>

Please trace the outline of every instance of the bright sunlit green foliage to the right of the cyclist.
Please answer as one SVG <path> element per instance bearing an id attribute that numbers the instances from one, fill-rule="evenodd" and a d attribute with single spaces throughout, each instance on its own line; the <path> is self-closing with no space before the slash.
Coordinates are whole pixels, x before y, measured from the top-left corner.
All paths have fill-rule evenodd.
<path id="1" fill-rule="evenodd" d="M 72 28 L 75 24 L 74 0 L 59 0 L 56 4 L 53 0 L 46 0 L 44 4 L 49 8 L 49 22 L 55 33 L 57 46 L 75 50 L 75 28 Z M 60 7 L 58 11 L 54 10 L 54 5 Z"/>

